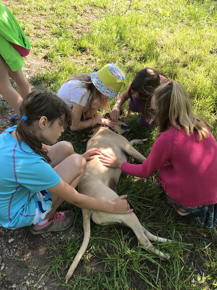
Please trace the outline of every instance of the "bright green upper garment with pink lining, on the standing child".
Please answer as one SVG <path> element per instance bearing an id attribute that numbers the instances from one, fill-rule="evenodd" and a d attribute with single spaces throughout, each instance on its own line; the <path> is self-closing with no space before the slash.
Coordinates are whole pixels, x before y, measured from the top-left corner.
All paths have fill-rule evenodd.
<path id="1" fill-rule="evenodd" d="M 0 2 L 0 35 L 9 42 L 31 49 L 31 44 L 11 11 Z"/>

